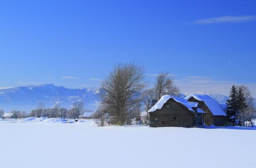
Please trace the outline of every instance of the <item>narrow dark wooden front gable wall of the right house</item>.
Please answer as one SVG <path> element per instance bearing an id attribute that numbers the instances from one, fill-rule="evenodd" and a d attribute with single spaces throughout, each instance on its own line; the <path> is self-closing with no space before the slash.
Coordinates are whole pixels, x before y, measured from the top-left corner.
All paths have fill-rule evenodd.
<path id="1" fill-rule="evenodd" d="M 203 101 L 196 100 L 193 97 L 189 98 L 188 101 L 197 102 L 198 107 L 205 111 L 205 114 L 204 114 L 204 124 L 205 125 L 210 126 L 210 125 L 214 124 L 214 116 L 213 116 L 212 112 L 210 112 L 210 109 L 208 108 L 208 106 Z"/>

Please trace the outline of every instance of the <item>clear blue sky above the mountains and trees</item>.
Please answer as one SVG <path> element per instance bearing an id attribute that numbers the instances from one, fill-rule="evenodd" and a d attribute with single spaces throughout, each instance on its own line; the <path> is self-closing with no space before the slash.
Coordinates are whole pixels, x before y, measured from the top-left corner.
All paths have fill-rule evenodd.
<path id="1" fill-rule="evenodd" d="M 1 1 L 0 88 L 98 87 L 118 62 L 181 92 L 256 96 L 256 1 Z"/>

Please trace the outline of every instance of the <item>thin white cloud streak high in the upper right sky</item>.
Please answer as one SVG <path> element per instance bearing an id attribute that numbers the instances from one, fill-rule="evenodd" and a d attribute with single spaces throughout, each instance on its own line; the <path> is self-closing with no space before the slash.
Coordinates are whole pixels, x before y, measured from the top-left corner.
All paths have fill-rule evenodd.
<path id="1" fill-rule="evenodd" d="M 193 24 L 214 24 L 214 23 L 241 23 L 256 20 L 255 15 L 250 16 L 221 16 L 217 18 L 199 19 Z"/>

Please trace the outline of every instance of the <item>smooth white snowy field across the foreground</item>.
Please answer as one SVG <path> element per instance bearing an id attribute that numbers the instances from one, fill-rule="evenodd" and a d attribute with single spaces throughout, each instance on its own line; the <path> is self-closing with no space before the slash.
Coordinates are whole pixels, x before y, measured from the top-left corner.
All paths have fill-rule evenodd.
<path id="1" fill-rule="evenodd" d="M 256 128 L 97 127 L 0 120 L 0 167 L 255 168 Z"/>

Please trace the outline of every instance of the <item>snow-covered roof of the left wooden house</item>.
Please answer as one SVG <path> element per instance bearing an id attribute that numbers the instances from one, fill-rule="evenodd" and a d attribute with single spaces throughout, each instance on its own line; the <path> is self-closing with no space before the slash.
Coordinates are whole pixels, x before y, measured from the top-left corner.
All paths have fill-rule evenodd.
<path id="1" fill-rule="evenodd" d="M 150 109 L 148 110 L 148 113 L 150 112 L 154 112 L 157 109 L 162 109 L 163 105 L 170 100 L 170 98 L 173 98 L 176 102 L 179 102 L 180 104 L 183 104 L 185 107 L 187 107 L 189 110 L 195 112 L 192 107 L 197 107 L 198 103 L 196 102 L 189 102 L 187 100 L 185 100 L 184 98 L 180 98 L 180 97 L 173 97 L 170 95 L 164 95 L 160 98 L 160 100 L 158 102 L 156 102 L 156 104 Z"/>

